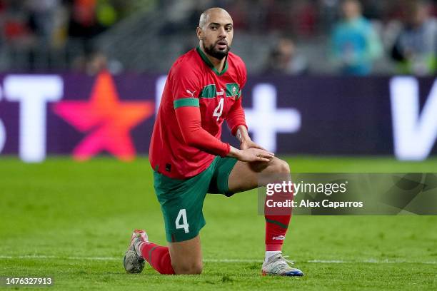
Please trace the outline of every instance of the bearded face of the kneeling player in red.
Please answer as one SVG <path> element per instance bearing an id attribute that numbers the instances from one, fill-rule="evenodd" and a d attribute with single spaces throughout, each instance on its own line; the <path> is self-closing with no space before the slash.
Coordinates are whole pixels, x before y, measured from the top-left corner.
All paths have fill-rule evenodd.
<path id="1" fill-rule="evenodd" d="M 204 51 L 221 60 L 231 49 L 233 22 L 230 16 L 220 11 L 212 12 L 203 28 L 198 30 Z"/>

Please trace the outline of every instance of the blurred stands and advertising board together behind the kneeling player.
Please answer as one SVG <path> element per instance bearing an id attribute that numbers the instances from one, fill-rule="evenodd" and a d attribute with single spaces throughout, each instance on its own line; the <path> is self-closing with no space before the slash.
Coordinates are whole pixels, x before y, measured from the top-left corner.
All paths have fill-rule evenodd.
<path id="1" fill-rule="evenodd" d="M 211 6 L 233 17 L 256 142 L 284 155 L 437 154 L 437 3 L 423 0 L 0 0 L 0 153 L 146 155 L 166 73 Z M 118 131 L 130 101 L 141 114 Z M 235 143 L 226 129 L 223 140 Z"/>

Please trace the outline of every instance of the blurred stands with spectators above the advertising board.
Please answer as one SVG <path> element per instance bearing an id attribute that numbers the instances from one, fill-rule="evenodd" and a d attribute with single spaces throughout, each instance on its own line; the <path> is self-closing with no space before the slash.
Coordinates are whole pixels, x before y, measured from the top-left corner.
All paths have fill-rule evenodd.
<path id="1" fill-rule="evenodd" d="M 0 71 L 166 73 L 211 6 L 252 74 L 436 73 L 436 1 L 418 0 L 0 0 Z"/>

